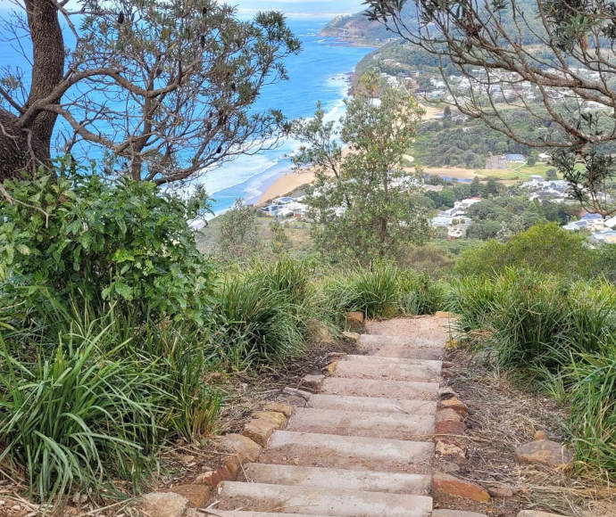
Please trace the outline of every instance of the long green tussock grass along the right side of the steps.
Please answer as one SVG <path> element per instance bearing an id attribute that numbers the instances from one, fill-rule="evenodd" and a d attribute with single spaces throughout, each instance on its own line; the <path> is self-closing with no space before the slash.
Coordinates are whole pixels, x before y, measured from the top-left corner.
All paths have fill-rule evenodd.
<path id="1" fill-rule="evenodd" d="M 616 288 L 529 269 L 452 283 L 462 331 L 487 329 L 487 357 L 570 403 L 578 465 L 616 477 Z"/>

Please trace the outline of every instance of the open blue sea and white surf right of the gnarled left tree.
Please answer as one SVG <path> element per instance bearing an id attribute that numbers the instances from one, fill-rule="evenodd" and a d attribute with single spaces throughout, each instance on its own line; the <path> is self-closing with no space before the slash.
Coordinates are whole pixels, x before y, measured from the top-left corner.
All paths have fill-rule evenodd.
<path id="1" fill-rule="evenodd" d="M 331 37 L 321 37 L 320 29 L 328 20 L 289 19 L 290 28 L 302 41 L 302 52 L 287 58 L 289 79 L 263 89 L 257 109 L 281 110 L 289 119 L 311 117 L 320 101 L 328 119 L 338 119 L 344 113 L 348 90 L 348 73 L 370 52 L 370 48 L 342 45 Z M 212 209 L 221 213 L 237 198 L 256 201 L 265 189 L 291 168 L 288 155 L 298 143 L 283 142 L 278 148 L 255 156 L 240 157 L 212 170 L 202 183 L 215 200 Z"/>

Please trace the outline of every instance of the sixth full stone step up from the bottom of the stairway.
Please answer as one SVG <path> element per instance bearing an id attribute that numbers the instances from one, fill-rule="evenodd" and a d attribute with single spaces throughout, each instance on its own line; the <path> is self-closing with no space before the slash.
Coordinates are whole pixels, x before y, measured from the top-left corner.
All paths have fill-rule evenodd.
<path id="1" fill-rule="evenodd" d="M 329 395 L 436 400 L 438 386 L 438 382 L 378 381 L 374 379 L 326 377 L 321 384 L 320 391 Z"/>

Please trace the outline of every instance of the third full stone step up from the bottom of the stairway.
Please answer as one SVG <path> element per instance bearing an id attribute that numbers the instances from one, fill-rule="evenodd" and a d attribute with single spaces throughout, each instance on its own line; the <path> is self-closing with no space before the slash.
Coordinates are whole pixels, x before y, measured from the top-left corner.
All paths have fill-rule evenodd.
<path id="1" fill-rule="evenodd" d="M 428 441 L 274 431 L 263 464 L 296 464 L 378 472 L 428 473 L 434 444 Z"/>

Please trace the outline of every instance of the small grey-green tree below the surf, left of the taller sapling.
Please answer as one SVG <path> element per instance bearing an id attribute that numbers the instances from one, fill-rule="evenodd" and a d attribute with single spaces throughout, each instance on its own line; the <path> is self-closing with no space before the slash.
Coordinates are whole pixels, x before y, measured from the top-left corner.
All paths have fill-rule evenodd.
<path id="1" fill-rule="evenodd" d="M 221 259 L 241 260 L 254 255 L 260 248 L 256 210 L 238 199 L 229 211 L 221 215 L 218 231 Z"/>

